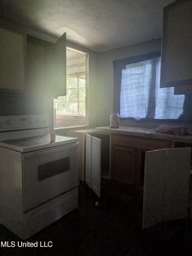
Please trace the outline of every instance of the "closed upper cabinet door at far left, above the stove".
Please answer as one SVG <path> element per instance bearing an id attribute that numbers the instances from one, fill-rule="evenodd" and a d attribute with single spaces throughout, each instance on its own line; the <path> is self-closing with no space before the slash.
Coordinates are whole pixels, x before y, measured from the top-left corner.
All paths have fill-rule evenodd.
<path id="1" fill-rule="evenodd" d="M 26 36 L 3 28 L 0 34 L 0 93 L 24 93 Z"/>

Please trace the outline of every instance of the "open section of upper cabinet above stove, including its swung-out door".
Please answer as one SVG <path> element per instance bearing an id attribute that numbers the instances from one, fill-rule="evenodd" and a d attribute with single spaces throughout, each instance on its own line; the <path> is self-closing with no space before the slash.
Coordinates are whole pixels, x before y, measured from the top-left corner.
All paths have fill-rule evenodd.
<path id="1" fill-rule="evenodd" d="M 27 35 L 27 92 L 41 98 L 66 95 L 66 33 L 55 44 Z"/>

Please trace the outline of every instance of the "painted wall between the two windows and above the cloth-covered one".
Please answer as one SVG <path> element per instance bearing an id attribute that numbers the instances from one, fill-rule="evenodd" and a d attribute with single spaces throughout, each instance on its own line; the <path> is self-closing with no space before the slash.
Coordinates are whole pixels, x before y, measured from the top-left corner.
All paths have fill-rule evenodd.
<path id="1" fill-rule="evenodd" d="M 98 126 L 110 125 L 110 114 L 113 110 L 113 61 L 131 56 L 161 51 L 161 39 L 129 45 L 99 54 L 98 79 Z M 106 108 L 107 113 L 104 113 Z"/>

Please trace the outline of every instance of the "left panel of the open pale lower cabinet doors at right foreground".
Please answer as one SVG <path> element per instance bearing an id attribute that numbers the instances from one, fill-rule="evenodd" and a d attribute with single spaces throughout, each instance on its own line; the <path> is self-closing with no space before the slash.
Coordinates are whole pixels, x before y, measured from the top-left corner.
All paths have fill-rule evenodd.
<path id="1" fill-rule="evenodd" d="M 164 220 L 167 149 L 145 154 L 143 229 Z"/>

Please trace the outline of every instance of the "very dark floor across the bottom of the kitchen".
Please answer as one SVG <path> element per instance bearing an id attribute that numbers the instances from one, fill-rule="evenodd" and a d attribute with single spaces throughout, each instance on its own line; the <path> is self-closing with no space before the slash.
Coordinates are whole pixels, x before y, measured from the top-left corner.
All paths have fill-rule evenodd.
<path id="1" fill-rule="evenodd" d="M 1 246 L 0 256 L 192 255 L 191 219 L 143 230 L 142 197 L 142 190 L 102 179 L 98 198 L 83 183 L 79 187 L 79 207 L 26 240 L 42 244 L 51 241 L 51 248 Z M 0 225 L 1 241 L 22 240 Z"/>

